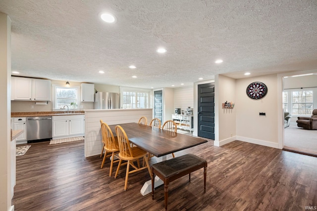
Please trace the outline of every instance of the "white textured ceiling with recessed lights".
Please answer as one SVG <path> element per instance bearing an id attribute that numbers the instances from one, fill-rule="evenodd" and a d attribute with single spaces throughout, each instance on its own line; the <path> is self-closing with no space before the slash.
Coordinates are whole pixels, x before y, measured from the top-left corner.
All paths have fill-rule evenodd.
<path id="1" fill-rule="evenodd" d="M 0 0 L 0 12 L 25 77 L 159 88 L 317 69 L 317 0 Z"/>

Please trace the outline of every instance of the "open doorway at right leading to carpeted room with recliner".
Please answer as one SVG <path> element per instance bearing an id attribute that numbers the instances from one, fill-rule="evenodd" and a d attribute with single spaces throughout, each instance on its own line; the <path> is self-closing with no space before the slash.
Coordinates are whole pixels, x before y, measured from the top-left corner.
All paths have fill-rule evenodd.
<path id="1" fill-rule="evenodd" d="M 317 76 L 316 74 L 295 76 L 285 77 L 282 85 L 283 110 L 292 117 L 287 125 L 287 120 L 284 120 L 283 150 L 317 157 L 317 130 L 304 129 L 298 127 L 296 123 L 298 116 L 310 117 L 316 108 Z"/>

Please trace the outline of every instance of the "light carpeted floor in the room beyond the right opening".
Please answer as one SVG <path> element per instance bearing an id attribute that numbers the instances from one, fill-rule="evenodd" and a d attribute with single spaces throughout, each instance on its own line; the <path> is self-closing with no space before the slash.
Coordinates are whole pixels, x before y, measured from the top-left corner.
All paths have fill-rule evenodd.
<path id="1" fill-rule="evenodd" d="M 284 148 L 317 155 L 317 130 L 289 126 L 284 129 Z"/>

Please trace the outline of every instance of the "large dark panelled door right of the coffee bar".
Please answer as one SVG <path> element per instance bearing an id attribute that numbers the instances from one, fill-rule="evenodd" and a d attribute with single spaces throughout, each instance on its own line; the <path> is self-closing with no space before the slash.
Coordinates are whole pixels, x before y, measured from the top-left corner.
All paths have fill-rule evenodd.
<path id="1" fill-rule="evenodd" d="M 214 140 L 214 82 L 198 84 L 198 136 Z"/>

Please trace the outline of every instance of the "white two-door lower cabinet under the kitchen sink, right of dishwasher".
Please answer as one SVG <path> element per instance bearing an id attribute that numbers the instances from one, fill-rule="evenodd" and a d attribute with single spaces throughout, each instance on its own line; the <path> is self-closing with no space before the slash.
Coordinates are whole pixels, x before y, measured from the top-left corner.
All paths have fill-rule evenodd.
<path id="1" fill-rule="evenodd" d="M 53 116 L 52 137 L 53 139 L 68 138 L 84 135 L 85 115 Z"/>

